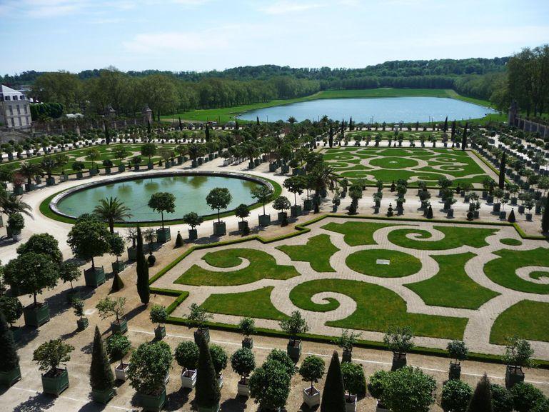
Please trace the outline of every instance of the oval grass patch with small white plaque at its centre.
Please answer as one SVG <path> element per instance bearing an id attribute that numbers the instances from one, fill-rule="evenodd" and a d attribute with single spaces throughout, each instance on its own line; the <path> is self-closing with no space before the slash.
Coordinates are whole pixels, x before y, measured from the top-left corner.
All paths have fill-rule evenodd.
<path id="1" fill-rule="evenodd" d="M 378 264 L 376 263 L 378 259 L 388 260 L 391 263 Z M 421 269 L 421 261 L 415 256 L 387 249 L 368 249 L 351 253 L 347 256 L 345 263 L 353 271 L 380 278 L 402 278 L 417 273 Z"/>

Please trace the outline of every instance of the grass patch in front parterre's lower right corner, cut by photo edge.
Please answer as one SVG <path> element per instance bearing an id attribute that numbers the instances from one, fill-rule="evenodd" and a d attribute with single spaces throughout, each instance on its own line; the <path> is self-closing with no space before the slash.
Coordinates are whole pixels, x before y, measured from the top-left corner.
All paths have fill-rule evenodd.
<path id="1" fill-rule="evenodd" d="M 507 338 L 518 336 L 529 341 L 549 342 L 549 303 L 520 301 L 495 319 L 490 343 L 505 345 Z"/>

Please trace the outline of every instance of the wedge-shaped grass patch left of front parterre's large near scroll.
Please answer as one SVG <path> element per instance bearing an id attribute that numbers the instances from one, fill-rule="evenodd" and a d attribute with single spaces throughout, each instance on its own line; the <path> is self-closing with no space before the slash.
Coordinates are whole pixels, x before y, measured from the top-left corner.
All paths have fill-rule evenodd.
<path id="1" fill-rule="evenodd" d="M 248 316 L 251 318 L 275 319 L 287 318 L 271 302 L 273 286 L 241 293 L 212 294 L 202 304 L 206 311 L 223 315 Z"/>

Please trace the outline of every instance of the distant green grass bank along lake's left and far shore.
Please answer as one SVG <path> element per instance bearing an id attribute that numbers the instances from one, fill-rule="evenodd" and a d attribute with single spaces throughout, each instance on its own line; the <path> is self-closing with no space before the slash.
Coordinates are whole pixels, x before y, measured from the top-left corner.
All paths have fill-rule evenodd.
<path id="1" fill-rule="evenodd" d="M 223 107 L 220 109 L 205 109 L 205 110 L 191 110 L 180 114 L 173 114 L 171 116 L 162 116 L 164 121 L 171 121 L 172 119 L 178 119 L 186 121 L 218 121 L 221 124 L 225 124 L 227 121 L 236 120 L 235 116 L 243 114 L 245 111 L 251 111 L 255 109 L 264 109 L 266 107 L 279 106 L 281 104 L 292 104 L 298 101 L 309 101 L 316 99 L 345 99 L 353 97 L 398 97 L 398 96 L 427 96 L 427 97 L 448 97 L 450 99 L 458 99 L 467 101 L 473 104 L 480 104 L 481 106 L 490 106 L 489 101 L 473 99 L 470 97 L 460 96 L 451 89 L 363 89 L 363 90 L 326 90 L 319 91 L 311 96 L 305 96 L 298 99 L 288 100 L 271 100 L 266 103 L 246 104 L 243 106 Z M 483 118 L 484 120 L 503 121 L 505 116 L 500 114 L 493 114 Z M 244 123 L 244 121 L 241 121 Z"/>

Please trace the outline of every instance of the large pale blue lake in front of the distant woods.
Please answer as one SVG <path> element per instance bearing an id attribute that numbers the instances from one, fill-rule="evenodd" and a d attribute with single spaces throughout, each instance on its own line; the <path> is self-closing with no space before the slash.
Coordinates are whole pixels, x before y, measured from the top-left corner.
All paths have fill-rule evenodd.
<path id="1" fill-rule="evenodd" d="M 273 106 L 266 109 L 248 111 L 238 119 L 261 121 L 288 120 L 293 116 L 297 121 L 318 120 L 324 115 L 330 119 L 349 119 L 364 123 L 404 121 L 443 121 L 467 120 L 496 113 L 488 107 L 478 106 L 457 99 L 445 97 L 384 97 L 373 99 L 318 99 L 299 103 Z"/>

